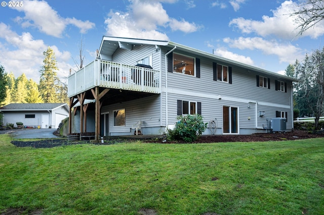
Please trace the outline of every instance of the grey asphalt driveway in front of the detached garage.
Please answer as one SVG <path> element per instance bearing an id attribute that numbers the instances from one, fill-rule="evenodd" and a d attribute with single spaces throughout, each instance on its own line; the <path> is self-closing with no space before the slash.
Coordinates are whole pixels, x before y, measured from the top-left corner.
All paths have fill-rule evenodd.
<path id="1" fill-rule="evenodd" d="M 17 129 L 11 133 L 14 139 L 38 139 L 38 138 L 60 138 L 53 132 L 56 129 Z"/>

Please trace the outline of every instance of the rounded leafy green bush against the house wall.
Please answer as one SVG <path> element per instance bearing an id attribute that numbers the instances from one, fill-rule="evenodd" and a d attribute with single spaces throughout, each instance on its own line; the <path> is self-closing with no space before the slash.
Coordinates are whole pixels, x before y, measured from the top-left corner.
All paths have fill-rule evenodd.
<path id="1" fill-rule="evenodd" d="M 178 116 L 178 122 L 173 130 L 168 129 L 168 140 L 193 142 L 203 134 L 208 123 L 204 123 L 201 115 Z"/>

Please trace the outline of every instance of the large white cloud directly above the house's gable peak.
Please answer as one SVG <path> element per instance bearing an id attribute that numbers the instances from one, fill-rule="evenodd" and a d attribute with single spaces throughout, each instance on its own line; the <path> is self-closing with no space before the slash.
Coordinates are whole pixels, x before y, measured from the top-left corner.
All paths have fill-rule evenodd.
<path id="1" fill-rule="evenodd" d="M 161 2 L 174 3 L 176 0 L 132 0 L 130 2 L 127 12 L 110 11 L 105 20 L 107 35 L 168 40 L 166 33 L 158 30 L 159 27 L 170 27 L 173 31 L 179 30 L 185 33 L 201 28 L 184 19 L 176 20 L 169 17 Z"/>

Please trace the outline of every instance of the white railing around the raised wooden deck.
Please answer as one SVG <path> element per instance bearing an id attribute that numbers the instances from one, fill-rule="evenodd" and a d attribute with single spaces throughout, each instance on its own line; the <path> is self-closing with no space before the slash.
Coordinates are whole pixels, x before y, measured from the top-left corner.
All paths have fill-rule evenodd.
<path id="1" fill-rule="evenodd" d="M 68 96 L 82 93 L 95 86 L 160 93 L 160 72 L 95 60 L 68 77 Z"/>

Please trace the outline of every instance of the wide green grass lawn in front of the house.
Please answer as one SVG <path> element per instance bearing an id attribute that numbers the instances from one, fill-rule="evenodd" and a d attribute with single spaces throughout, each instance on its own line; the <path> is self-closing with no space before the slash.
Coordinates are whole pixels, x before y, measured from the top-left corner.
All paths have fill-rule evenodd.
<path id="1" fill-rule="evenodd" d="M 18 148 L 0 135 L 0 213 L 324 214 L 324 138 Z"/>

